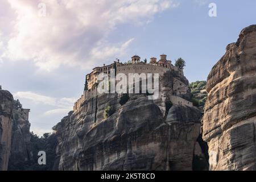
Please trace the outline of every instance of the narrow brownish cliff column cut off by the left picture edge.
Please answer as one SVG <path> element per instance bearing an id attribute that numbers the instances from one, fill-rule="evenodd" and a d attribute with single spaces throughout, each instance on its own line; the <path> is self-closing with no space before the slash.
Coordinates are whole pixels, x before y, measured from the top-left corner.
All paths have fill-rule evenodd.
<path id="1" fill-rule="evenodd" d="M 0 170 L 7 170 L 13 131 L 13 96 L 0 90 Z"/>

